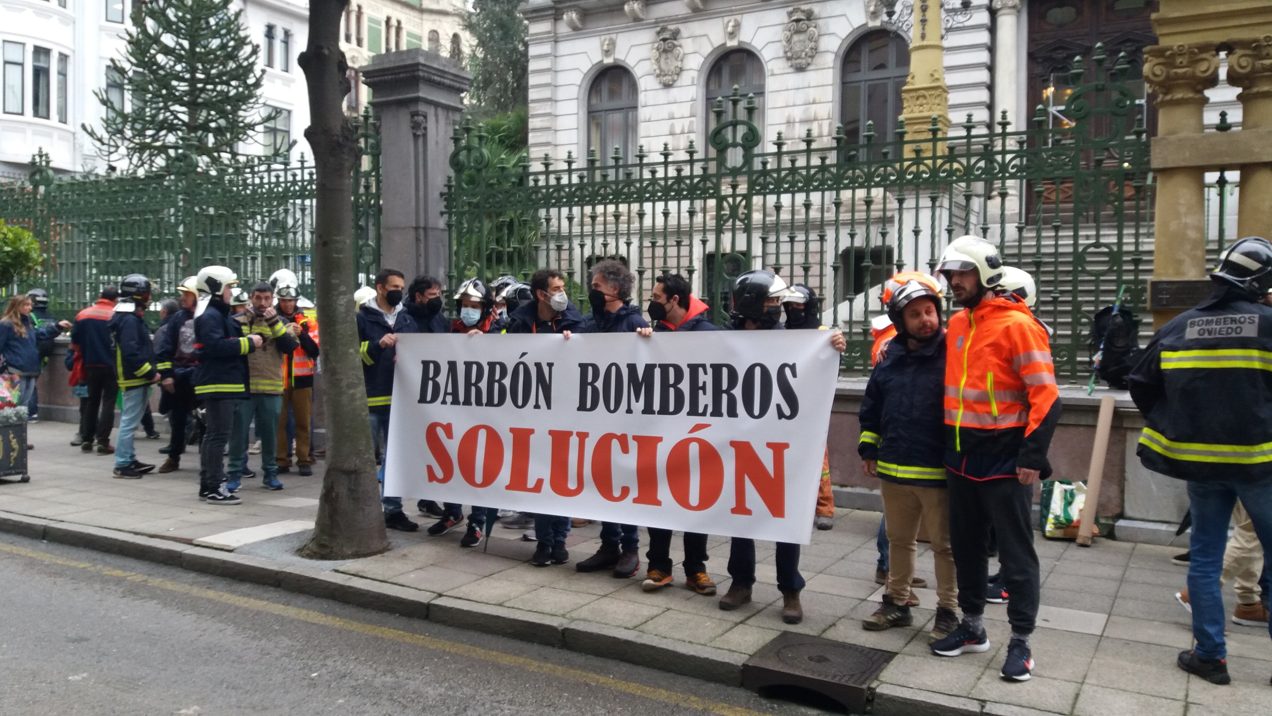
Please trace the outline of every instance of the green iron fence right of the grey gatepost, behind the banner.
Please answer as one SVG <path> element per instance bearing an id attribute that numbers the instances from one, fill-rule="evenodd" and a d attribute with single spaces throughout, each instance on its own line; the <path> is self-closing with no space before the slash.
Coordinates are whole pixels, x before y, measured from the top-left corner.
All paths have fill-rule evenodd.
<path id="1" fill-rule="evenodd" d="M 848 369 L 865 371 L 879 285 L 895 271 L 935 266 L 953 238 L 976 233 L 1039 284 L 1035 313 L 1053 329 L 1057 371 L 1086 372 L 1091 316 L 1121 285 L 1144 307 L 1151 264 L 1149 138 L 1142 106 L 1099 48 L 1093 82 L 1075 60 L 1077 89 L 1065 122 L 1043 110 L 1014 129 L 968 121 L 941 135 L 898 121 L 897 140 L 847 144 L 842 129 L 777 134 L 759 152 L 754 99 L 735 90 L 714 107 L 709 149 L 644 148 L 625 162 L 617 148 L 530 166 L 491 166 L 480 126 L 454 136 L 445 218 L 450 283 L 468 276 L 528 276 L 552 266 L 583 301 L 589 268 L 614 257 L 636 273 L 644 303 L 654 279 L 681 273 L 722 321 L 730 282 L 766 268 L 813 288 L 823 321 L 845 330 Z"/>

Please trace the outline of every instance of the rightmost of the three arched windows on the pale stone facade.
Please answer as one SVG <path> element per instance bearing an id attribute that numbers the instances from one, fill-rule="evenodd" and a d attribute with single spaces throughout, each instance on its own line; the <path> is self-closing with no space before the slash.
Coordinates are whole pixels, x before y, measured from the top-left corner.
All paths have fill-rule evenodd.
<path id="1" fill-rule="evenodd" d="M 909 74 L 909 46 L 895 33 L 871 32 L 843 56 L 840 121 L 848 144 L 862 141 L 866 122 L 874 122 L 875 141 L 892 141 L 901 116 L 901 88 Z M 922 127 L 908 127 L 918 129 Z M 911 134 L 909 138 L 923 138 Z"/>

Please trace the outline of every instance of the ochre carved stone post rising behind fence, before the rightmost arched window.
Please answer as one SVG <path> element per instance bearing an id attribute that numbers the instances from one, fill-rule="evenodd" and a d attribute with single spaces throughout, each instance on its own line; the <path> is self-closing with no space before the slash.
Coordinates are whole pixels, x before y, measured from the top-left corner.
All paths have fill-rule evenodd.
<path id="1" fill-rule="evenodd" d="M 932 115 L 945 135 L 950 127 L 950 90 L 945 87 L 945 45 L 941 43 L 941 0 L 915 0 L 909 42 L 909 76 L 901 89 L 901 116 L 908 139 L 923 138 Z M 875 127 L 880 131 L 880 127 Z"/>

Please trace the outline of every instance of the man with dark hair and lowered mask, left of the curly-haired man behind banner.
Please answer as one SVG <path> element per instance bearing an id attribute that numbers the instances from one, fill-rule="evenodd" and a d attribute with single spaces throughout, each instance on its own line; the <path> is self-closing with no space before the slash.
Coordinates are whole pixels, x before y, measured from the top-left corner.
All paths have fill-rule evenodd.
<path id="1" fill-rule="evenodd" d="M 572 333 L 588 330 L 583 315 L 565 292 L 565 278 L 561 276 L 561 271 L 556 269 L 534 271 L 530 276 L 530 290 L 534 293 L 534 301 L 518 306 L 508 315 L 506 333 L 561 334 L 569 339 Z M 570 517 L 536 515 L 534 534 L 539 544 L 530 557 L 532 564 L 547 567 L 570 561 L 570 552 L 565 548 L 565 536 L 570 534 Z"/>

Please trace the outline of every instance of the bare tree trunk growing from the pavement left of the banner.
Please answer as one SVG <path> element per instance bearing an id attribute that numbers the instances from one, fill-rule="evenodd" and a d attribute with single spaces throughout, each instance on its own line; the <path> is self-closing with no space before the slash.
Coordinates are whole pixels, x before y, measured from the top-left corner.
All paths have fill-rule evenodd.
<path id="1" fill-rule="evenodd" d="M 366 387 L 354 319 L 354 195 L 357 162 L 354 125 L 343 112 L 349 79 L 340 23 L 349 0 L 309 0 L 309 41 L 298 64 L 309 89 L 317 176 L 314 201 L 314 303 L 322 325 L 327 474 L 314 534 L 300 549 L 310 559 L 350 559 L 388 549 L 375 478 Z"/>

